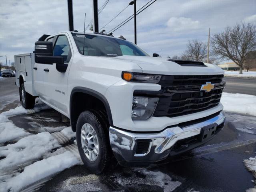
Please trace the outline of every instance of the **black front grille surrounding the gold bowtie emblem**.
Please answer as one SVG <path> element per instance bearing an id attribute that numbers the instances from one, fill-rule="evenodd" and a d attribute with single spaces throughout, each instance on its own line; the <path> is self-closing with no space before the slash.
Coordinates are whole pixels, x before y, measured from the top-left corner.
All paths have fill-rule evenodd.
<path id="1" fill-rule="evenodd" d="M 153 116 L 182 116 L 217 106 L 226 84 L 222 78 L 223 75 L 162 76 L 160 91 L 135 91 L 134 95 L 159 98 Z M 206 82 L 214 83 L 214 89 L 210 92 L 200 91 Z"/>

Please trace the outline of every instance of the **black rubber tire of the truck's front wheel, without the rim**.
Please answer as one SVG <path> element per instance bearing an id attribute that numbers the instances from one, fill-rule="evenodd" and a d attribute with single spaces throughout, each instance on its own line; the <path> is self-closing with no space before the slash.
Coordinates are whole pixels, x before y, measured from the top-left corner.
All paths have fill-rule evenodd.
<path id="1" fill-rule="evenodd" d="M 94 128 L 98 138 L 98 157 L 95 161 L 90 161 L 82 148 L 81 130 L 82 126 L 86 123 Z M 94 174 L 102 173 L 109 165 L 112 157 L 108 136 L 108 124 L 105 117 L 94 110 L 82 112 L 76 124 L 76 142 L 84 166 Z"/>

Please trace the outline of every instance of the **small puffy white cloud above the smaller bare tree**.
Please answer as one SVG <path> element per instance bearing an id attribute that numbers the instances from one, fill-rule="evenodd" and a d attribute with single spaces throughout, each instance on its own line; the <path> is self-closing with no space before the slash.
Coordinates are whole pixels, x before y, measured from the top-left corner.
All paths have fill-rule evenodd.
<path id="1" fill-rule="evenodd" d="M 167 26 L 170 30 L 178 31 L 190 31 L 195 30 L 200 27 L 200 22 L 197 20 L 192 20 L 191 18 L 185 17 L 171 17 L 168 22 Z"/>

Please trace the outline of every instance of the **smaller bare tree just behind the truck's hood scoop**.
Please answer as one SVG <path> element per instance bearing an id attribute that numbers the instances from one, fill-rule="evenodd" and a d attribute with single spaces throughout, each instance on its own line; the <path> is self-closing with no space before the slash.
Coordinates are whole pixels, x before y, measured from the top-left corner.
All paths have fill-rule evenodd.
<path id="1" fill-rule="evenodd" d="M 186 60 L 203 61 L 206 56 L 207 45 L 198 40 L 188 41 L 187 49 L 182 54 L 182 58 Z"/>

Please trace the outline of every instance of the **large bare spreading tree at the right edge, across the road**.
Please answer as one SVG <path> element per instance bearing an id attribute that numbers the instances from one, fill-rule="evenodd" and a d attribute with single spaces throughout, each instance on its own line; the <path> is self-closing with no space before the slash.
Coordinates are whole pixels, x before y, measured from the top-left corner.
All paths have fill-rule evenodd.
<path id="1" fill-rule="evenodd" d="M 227 27 L 224 32 L 214 34 L 211 38 L 212 52 L 220 58 L 229 58 L 240 67 L 247 54 L 256 46 L 256 26 L 251 23 L 236 24 L 233 28 Z"/>

